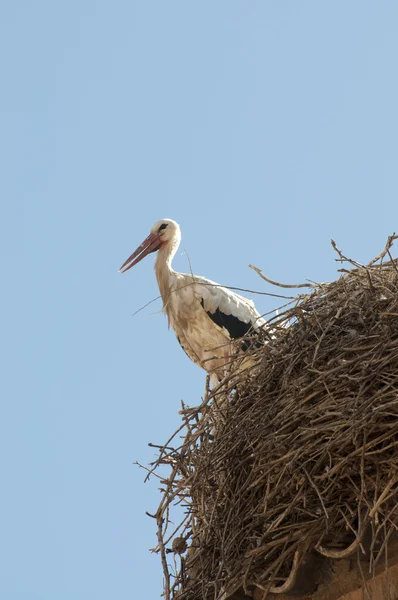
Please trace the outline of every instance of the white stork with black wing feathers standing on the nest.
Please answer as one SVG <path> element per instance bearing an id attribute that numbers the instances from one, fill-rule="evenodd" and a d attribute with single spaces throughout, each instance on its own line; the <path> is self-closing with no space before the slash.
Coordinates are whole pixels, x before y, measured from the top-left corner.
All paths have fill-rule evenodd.
<path id="1" fill-rule="evenodd" d="M 216 375 L 217 381 L 234 352 L 231 341 L 251 332 L 255 335 L 266 322 L 251 300 L 210 279 L 174 271 L 171 262 L 180 241 L 178 223 L 172 219 L 157 221 L 119 271 L 125 273 L 157 251 L 155 272 L 169 326 L 189 358 Z M 246 348 L 247 344 L 242 344 L 242 349 Z"/>

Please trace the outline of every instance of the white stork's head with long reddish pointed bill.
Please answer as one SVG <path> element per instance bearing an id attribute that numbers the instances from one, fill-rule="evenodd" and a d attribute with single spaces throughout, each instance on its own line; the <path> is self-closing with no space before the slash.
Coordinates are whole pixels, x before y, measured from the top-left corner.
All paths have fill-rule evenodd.
<path id="1" fill-rule="evenodd" d="M 161 219 L 152 226 L 148 237 L 140 244 L 131 256 L 122 264 L 119 271 L 125 273 L 131 267 L 134 267 L 147 254 L 157 250 L 167 250 L 169 252 L 176 248 L 181 240 L 181 231 L 178 223 L 172 219 Z"/>

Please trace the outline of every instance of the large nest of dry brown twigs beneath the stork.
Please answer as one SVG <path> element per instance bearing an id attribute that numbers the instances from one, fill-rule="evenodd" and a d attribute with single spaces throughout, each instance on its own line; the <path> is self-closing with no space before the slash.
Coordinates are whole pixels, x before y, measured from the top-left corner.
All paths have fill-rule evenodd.
<path id="1" fill-rule="evenodd" d="M 398 528 L 394 239 L 366 266 L 334 245 L 349 269 L 271 319 L 254 366 L 182 407 L 149 470 L 166 600 L 266 598 L 308 553 L 366 551 L 374 568 L 385 552 Z"/>

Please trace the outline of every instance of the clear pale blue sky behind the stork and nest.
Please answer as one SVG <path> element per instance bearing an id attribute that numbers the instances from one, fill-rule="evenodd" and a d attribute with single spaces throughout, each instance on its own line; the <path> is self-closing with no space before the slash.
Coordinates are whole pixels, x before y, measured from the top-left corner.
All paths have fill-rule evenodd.
<path id="1" fill-rule="evenodd" d="M 1 535 L 7 600 L 157 598 L 133 465 L 200 402 L 153 257 L 261 291 L 398 231 L 394 0 L 3 0 Z M 397 252 L 396 252 L 397 253 Z M 260 312 L 278 301 L 255 296 Z"/>

